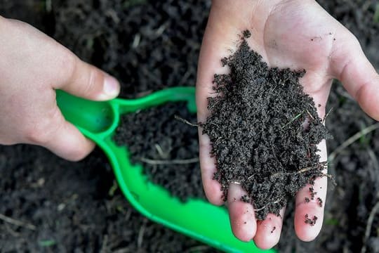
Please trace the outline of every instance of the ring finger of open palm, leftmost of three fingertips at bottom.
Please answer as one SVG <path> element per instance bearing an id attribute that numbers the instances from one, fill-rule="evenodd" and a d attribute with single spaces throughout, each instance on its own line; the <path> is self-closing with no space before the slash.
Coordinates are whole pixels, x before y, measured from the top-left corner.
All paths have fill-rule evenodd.
<path id="1" fill-rule="evenodd" d="M 230 225 L 235 237 L 244 242 L 253 239 L 257 230 L 257 222 L 253 205 L 241 201 L 241 197 L 246 195 L 241 186 L 231 183 L 227 195 L 227 209 L 229 210 Z"/>

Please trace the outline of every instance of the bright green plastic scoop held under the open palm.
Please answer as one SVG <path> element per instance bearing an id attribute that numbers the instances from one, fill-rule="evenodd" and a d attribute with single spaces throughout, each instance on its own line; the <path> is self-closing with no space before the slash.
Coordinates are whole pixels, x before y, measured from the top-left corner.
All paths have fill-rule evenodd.
<path id="1" fill-rule="evenodd" d="M 226 252 L 274 252 L 260 250 L 253 242 L 237 240 L 225 208 L 199 199 L 182 203 L 161 186 L 148 181 L 141 165 L 129 161 L 128 149 L 114 143 L 112 136 L 120 115 L 175 101 L 187 101 L 189 111 L 196 112 L 194 92 L 192 87 L 175 87 L 133 100 L 116 98 L 94 102 L 57 91 L 57 101 L 65 118 L 104 150 L 119 187 L 141 214 Z"/>

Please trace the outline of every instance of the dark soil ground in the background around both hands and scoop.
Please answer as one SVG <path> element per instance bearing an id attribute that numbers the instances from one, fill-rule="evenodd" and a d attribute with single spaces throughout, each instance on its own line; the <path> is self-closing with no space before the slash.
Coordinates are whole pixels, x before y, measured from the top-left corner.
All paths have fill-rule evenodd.
<path id="1" fill-rule="evenodd" d="M 0 15 L 29 22 L 119 77 L 124 97 L 195 83 L 209 0 L 0 2 Z M 53 6 L 46 6 L 49 2 Z M 357 36 L 379 69 L 379 1 L 318 2 Z M 328 108 L 334 108 L 326 119 L 334 136 L 329 153 L 375 124 L 340 84 L 333 85 Z M 365 235 L 379 201 L 378 140 L 379 131 L 371 131 L 335 157 L 328 173 L 338 186 L 328 188 L 324 227 L 316 240 L 296 238 L 293 202 L 288 202 L 280 252 L 360 252 L 364 245 L 367 252 L 379 252 L 379 214 Z M 36 228 L 0 219 L 0 252 L 215 251 L 135 212 L 100 150 L 72 163 L 31 145 L 0 146 L 0 173 L 0 215 Z"/>

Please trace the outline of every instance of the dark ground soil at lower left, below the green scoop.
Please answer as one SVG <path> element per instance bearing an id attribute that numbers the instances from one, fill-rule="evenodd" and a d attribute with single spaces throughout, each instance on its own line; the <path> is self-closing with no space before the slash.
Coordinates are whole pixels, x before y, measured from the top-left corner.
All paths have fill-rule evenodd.
<path id="1" fill-rule="evenodd" d="M 22 157 L 22 158 L 20 158 Z M 128 204 L 101 150 L 78 163 L 30 145 L 0 148 L 0 252 L 215 252 Z"/>

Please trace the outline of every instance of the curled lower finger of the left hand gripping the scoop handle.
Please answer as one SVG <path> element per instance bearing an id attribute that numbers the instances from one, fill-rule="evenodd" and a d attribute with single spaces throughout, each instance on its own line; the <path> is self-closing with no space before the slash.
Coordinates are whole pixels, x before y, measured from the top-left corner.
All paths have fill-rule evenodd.
<path id="1" fill-rule="evenodd" d="M 42 145 L 70 161 L 83 159 L 95 148 L 95 143 L 84 137 L 73 124 L 67 122 L 58 108 L 53 117 L 46 119 L 46 122 L 48 122 L 45 124 L 46 127 L 29 135 L 32 136 L 29 138 L 29 143 Z"/>

